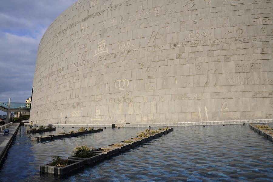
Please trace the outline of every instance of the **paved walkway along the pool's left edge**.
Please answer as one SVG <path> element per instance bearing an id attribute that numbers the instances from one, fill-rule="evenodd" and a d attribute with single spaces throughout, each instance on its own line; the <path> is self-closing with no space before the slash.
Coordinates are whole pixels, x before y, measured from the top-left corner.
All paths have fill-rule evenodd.
<path id="1" fill-rule="evenodd" d="M 20 126 L 19 123 L 12 124 L 6 129 L 8 129 L 9 132 L 16 135 L 19 126 Z M 3 130 L 0 131 L 0 161 L 5 156 L 5 153 L 7 152 L 9 145 L 12 143 L 13 138 L 14 136 L 12 134 L 9 133 L 8 135 L 4 135 L 4 131 Z"/>

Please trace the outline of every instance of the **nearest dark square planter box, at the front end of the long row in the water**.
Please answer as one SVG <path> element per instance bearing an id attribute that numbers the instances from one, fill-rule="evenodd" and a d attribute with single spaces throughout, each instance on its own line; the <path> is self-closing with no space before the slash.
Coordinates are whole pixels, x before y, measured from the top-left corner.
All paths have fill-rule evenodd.
<path id="1" fill-rule="evenodd" d="M 82 160 L 69 159 L 68 161 L 73 163 L 65 167 L 50 166 L 50 163 L 41 165 L 40 173 L 54 174 L 58 176 L 68 176 L 84 168 L 84 161 Z"/>

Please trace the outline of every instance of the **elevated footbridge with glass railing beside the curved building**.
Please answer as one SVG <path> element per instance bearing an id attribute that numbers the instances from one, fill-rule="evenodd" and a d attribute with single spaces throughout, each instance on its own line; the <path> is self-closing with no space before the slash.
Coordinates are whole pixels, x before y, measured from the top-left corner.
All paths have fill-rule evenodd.
<path id="1" fill-rule="evenodd" d="M 7 112 L 8 102 L 0 102 L 0 110 Z M 9 112 L 30 112 L 29 103 L 11 102 Z"/>

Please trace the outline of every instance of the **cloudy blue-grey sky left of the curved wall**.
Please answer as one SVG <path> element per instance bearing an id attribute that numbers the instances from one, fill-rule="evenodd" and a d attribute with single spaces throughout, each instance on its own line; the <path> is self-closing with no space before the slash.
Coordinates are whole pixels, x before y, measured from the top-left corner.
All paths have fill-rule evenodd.
<path id="1" fill-rule="evenodd" d="M 7 0 L 0 5 L 0 102 L 31 97 L 39 42 L 76 0 Z M 0 114 L 5 114 L 0 112 Z"/>

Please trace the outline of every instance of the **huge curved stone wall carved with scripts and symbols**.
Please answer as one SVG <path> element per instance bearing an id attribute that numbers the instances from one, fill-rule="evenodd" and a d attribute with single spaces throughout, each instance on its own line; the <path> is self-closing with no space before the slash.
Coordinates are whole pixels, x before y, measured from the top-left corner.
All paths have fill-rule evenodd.
<path id="1" fill-rule="evenodd" d="M 273 118 L 272 0 L 79 0 L 40 45 L 30 120 Z"/>

